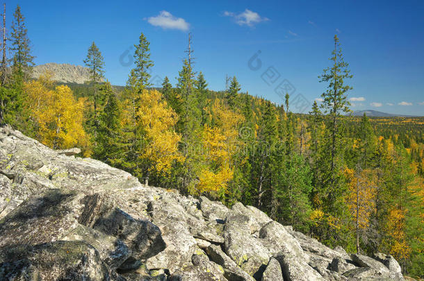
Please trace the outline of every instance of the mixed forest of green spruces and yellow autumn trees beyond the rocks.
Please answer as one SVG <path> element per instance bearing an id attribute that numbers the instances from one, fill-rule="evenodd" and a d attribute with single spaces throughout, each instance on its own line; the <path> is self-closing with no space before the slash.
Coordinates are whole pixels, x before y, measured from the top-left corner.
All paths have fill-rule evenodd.
<path id="1" fill-rule="evenodd" d="M 347 116 L 352 74 L 337 36 L 319 78 L 323 102 L 309 114 L 291 112 L 289 94 L 277 105 L 240 92 L 236 76 L 227 89 L 208 90 L 190 51 L 177 85 L 165 77 L 153 89 L 143 33 L 125 87 L 103 82 L 95 42 L 83 61 L 89 83 L 31 79 L 19 6 L 4 38 L 0 124 L 51 148 L 78 146 L 148 185 L 253 205 L 329 246 L 390 253 L 405 274 L 424 278 L 424 118 Z"/>

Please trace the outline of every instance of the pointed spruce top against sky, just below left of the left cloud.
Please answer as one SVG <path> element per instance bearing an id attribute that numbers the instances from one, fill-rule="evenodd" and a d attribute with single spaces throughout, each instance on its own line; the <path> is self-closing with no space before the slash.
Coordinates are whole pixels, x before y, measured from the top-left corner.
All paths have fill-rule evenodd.
<path id="1" fill-rule="evenodd" d="M 138 87 L 142 89 L 144 87 L 149 87 L 152 85 L 149 83 L 151 75 L 149 74 L 150 67 L 153 67 L 154 63 L 150 60 L 150 48 L 149 41 L 147 41 L 143 33 L 140 34 L 138 44 L 134 45 L 136 47 L 136 52 L 134 53 L 134 60 L 136 67 L 131 70 L 129 84 L 132 87 Z"/>

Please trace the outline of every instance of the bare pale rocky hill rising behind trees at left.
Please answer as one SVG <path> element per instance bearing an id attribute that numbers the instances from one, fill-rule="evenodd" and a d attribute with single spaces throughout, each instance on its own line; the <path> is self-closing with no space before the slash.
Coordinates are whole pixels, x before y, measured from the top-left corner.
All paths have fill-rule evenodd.
<path id="1" fill-rule="evenodd" d="M 87 67 L 54 62 L 33 67 L 33 78 L 40 77 L 46 70 L 51 71 L 54 74 L 53 80 L 60 83 L 83 84 L 85 81 L 90 80 L 90 73 Z"/>

